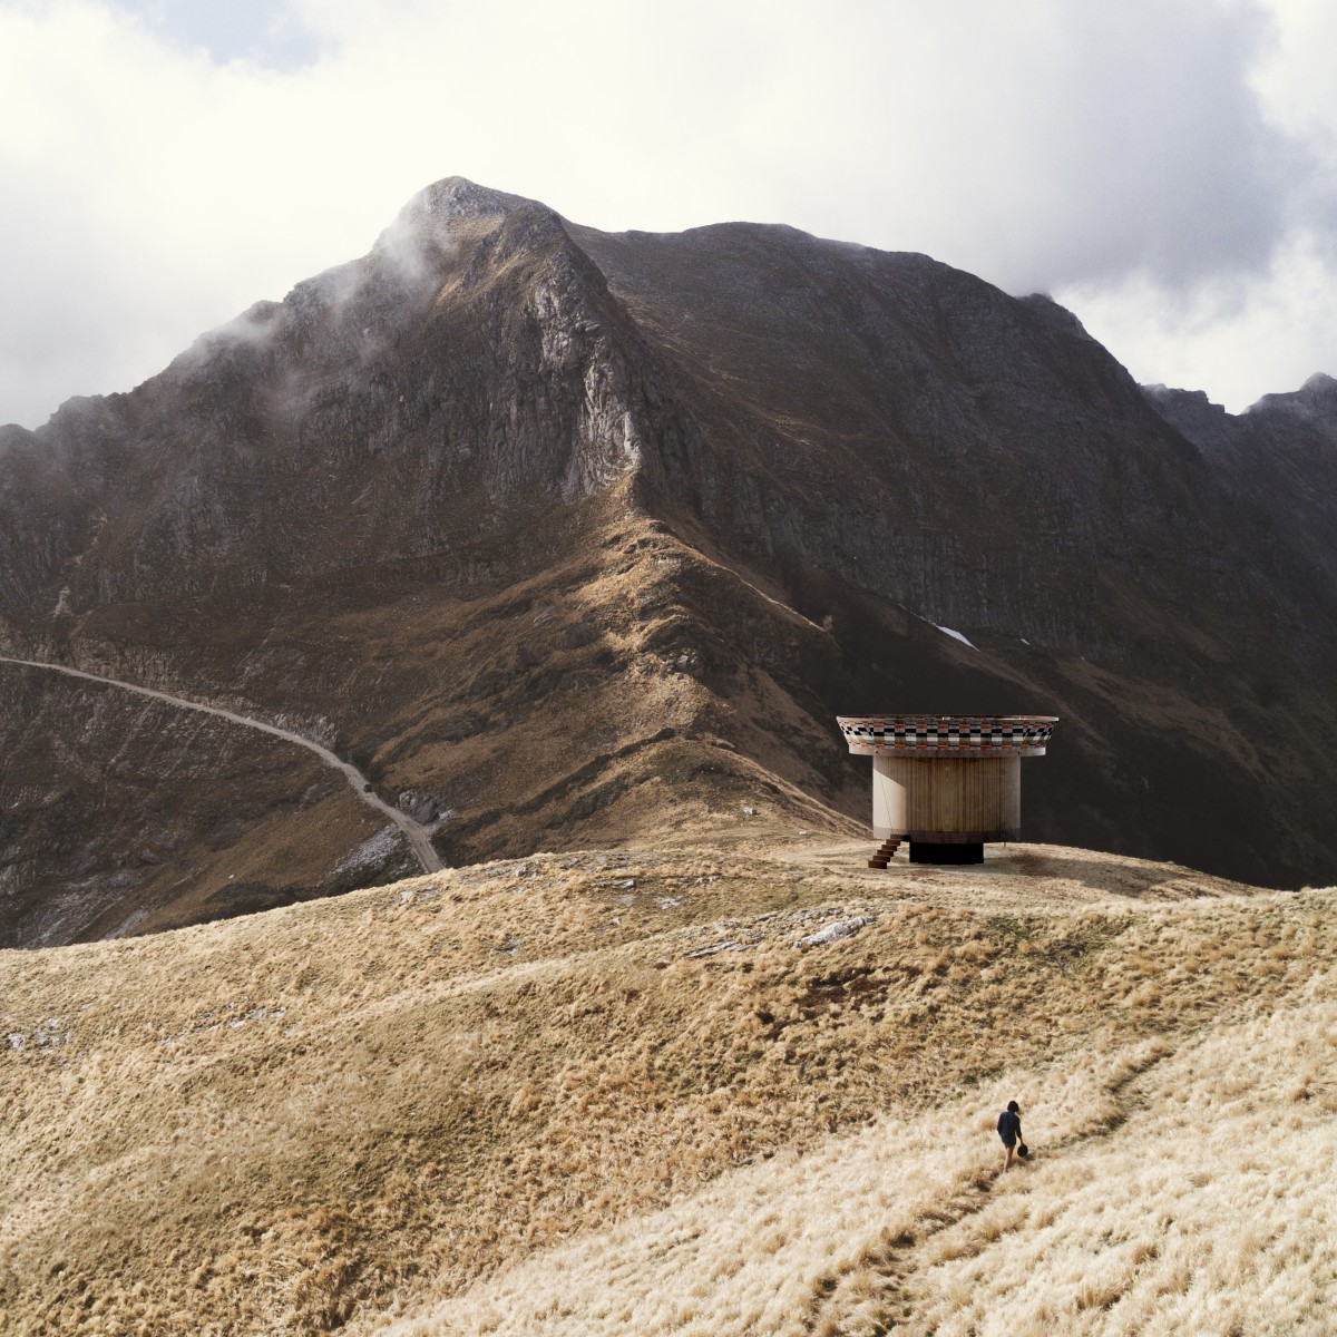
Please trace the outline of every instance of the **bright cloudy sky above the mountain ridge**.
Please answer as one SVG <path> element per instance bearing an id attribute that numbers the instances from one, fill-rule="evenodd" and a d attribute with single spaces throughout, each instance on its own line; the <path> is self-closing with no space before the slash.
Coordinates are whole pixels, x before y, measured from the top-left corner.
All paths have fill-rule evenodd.
<path id="1" fill-rule="evenodd" d="M 1332 0 L 0 0 L 0 422 L 441 176 L 1047 291 L 1233 412 L 1337 374 Z"/>

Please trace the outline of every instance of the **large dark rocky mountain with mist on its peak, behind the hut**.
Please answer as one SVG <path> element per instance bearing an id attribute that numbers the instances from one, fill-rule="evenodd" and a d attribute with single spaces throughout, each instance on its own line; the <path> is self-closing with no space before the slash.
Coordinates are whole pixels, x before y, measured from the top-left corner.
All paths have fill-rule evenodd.
<path id="1" fill-rule="evenodd" d="M 0 654 L 325 742 L 448 864 L 745 809 L 853 833 L 836 713 L 1034 710 L 1028 837 L 1332 880 L 1310 386 L 1215 448 L 1047 298 L 453 178 L 131 393 L 0 429 Z M 115 687 L 0 664 L 0 749 L 9 945 L 412 866 L 299 749 Z"/>

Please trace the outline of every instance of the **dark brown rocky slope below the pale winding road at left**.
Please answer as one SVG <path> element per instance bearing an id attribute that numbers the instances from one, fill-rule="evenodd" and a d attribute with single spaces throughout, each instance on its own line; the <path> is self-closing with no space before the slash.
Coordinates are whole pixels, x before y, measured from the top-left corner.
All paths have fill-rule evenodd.
<path id="1" fill-rule="evenodd" d="M 299 747 L 4 666 L 0 947 L 227 919 L 416 870 Z"/>

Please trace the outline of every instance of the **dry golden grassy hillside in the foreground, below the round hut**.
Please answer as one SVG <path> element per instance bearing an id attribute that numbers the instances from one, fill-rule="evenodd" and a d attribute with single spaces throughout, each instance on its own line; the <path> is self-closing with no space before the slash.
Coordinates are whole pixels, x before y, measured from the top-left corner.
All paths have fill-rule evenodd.
<path id="1" fill-rule="evenodd" d="M 1337 893 L 750 834 L 0 953 L 0 1332 L 1329 1329 Z"/>

